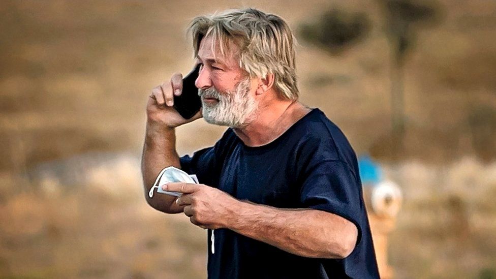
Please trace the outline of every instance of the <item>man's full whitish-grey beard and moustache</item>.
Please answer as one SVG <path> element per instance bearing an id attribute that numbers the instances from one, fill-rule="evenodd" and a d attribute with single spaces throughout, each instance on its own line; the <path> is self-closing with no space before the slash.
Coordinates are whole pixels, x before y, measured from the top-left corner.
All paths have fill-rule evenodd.
<path id="1" fill-rule="evenodd" d="M 236 85 L 233 91 L 220 93 L 213 87 L 199 89 L 202 97 L 202 114 L 205 121 L 215 125 L 242 128 L 256 117 L 258 102 L 250 96 L 250 79 L 247 78 Z M 203 102 L 203 97 L 219 100 L 216 104 Z"/>

